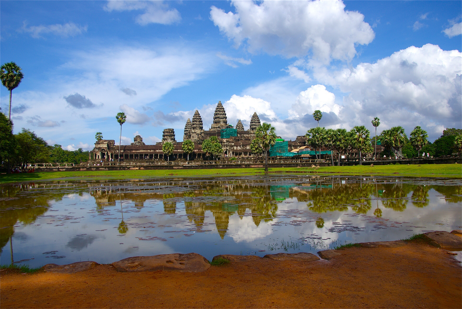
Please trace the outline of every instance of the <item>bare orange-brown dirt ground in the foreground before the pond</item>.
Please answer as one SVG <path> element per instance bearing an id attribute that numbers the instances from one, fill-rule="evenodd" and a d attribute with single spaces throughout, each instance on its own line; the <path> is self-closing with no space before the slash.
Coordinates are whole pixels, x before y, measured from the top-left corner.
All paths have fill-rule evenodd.
<path id="1" fill-rule="evenodd" d="M 0 272 L 1 308 L 461 308 L 462 267 L 413 242 L 331 261 L 259 261 L 203 273 Z"/>

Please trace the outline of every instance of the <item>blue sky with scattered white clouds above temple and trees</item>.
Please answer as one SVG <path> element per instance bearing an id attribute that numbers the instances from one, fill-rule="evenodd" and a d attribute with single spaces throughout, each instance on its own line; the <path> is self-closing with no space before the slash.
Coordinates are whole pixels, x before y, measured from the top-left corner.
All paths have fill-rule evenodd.
<path id="1" fill-rule="evenodd" d="M 256 112 L 294 140 L 316 126 L 371 136 L 462 127 L 461 1 L 0 1 L 0 62 L 24 79 L 14 132 L 91 150 L 96 132 L 183 139 L 218 101 L 244 129 Z M 9 91 L 0 87 L 1 111 Z"/>

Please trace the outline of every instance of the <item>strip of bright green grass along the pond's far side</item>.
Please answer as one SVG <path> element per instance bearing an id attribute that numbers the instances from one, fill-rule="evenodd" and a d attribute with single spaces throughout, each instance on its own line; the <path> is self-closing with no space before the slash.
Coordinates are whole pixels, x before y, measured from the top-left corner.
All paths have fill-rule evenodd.
<path id="1" fill-rule="evenodd" d="M 297 172 L 306 174 L 342 175 L 399 175 L 414 177 L 462 178 L 460 164 L 422 165 L 379 165 L 379 166 L 326 166 L 326 167 L 281 167 L 270 168 L 269 173 Z M 131 170 L 131 171 L 66 171 L 36 172 L 24 174 L 1 174 L 0 183 L 39 181 L 49 179 L 133 179 L 155 177 L 189 176 L 231 176 L 263 174 L 263 168 L 223 168 L 223 169 L 171 169 L 171 170 Z"/>

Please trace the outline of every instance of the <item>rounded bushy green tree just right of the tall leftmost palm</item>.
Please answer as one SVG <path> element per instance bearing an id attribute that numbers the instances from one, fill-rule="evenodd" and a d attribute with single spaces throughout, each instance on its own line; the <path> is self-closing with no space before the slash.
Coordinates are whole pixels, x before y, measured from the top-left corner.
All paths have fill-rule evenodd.
<path id="1" fill-rule="evenodd" d="M 49 149 L 47 142 L 42 137 L 38 137 L 34 132 L 22 129 L 16 134 L 17 162 L 21 168 L 25 169 L 28 163 L 47 162 L 49 159 Z"/>

